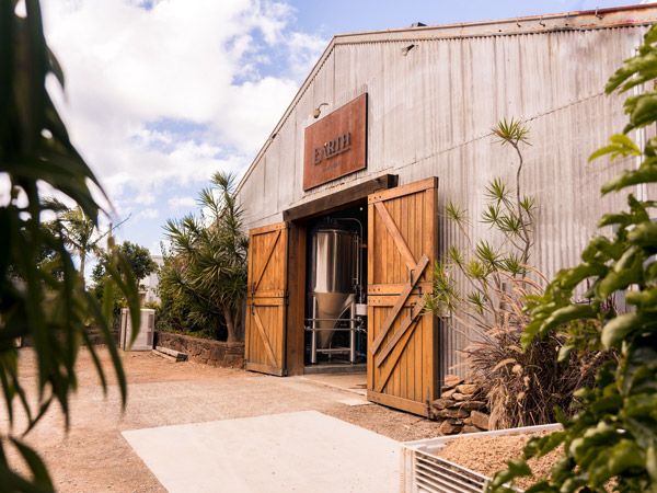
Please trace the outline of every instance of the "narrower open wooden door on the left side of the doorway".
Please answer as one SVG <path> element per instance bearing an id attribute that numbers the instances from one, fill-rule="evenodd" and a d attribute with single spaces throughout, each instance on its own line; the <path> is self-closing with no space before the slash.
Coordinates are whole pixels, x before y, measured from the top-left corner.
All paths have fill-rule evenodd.
<path id="1" fill-rule="evenodd" d="M 249 233 L 246 369 L 285 375 L 288 223 Z"/>

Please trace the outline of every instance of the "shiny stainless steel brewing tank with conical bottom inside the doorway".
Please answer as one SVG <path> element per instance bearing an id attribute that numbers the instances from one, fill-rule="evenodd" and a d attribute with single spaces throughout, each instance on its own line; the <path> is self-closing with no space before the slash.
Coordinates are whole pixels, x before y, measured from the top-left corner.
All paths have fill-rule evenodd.
<path id="1" fill-rule="evenodd" d="M 320 228 L 311 233 L 309 317 L 313 319 L 343 318 L 355 301 L 358 279 L 358 233 L 339 228 Z M 314 326 L 333 329 L 332 320 L 320 320 Z M 331 343 L 333 331 L 318 333 L 318 347 Z"/>

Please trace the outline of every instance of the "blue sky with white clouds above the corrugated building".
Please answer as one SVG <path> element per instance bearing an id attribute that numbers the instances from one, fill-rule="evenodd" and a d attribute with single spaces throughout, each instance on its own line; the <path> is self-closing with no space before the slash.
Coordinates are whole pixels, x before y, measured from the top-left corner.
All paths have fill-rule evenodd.
<path id="1" fill-rule="evenodd" d="M 71 137 L 117 232 L 160 253 L 219 170 L 241 174 L 335 34 L 541 15 L 638 1 L 58 0 L 47 38 Z M 55 88 L 55 87 L 54 87 Z"/>

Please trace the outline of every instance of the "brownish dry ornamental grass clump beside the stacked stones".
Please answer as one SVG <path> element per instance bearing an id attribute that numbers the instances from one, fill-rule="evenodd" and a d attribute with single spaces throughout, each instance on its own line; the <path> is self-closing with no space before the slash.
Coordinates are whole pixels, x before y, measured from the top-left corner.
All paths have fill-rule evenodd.
<path id="1" fill-rule="evenodd" d="M 566 341 L 560 331 L 534 339 L 522 351 L 520 337 L 529 323 L 526 299 L 542 295 L 543 289 L 529 278 L 500 275 L 507 288 L 496 290 L 499 308 L 495 322 L 477 323 L 482 336 L 465 348 L 464 363 L 486 382 L 492 429 L 554 423 L 555 408 L 573 414 L 574 392 L 593 386 L 596 370 L 611 355 L 590 351 L 558 363 L 557 354 Z"/>

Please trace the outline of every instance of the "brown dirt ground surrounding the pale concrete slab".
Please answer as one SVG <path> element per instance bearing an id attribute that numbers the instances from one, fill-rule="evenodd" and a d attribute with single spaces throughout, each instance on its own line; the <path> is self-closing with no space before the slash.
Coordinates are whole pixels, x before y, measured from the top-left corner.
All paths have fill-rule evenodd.
<path id="1" fill-rule="evenodd" d="M 102 349 L 101 355 L 108 367 L 108 354 Z M 123 363 L 128 378 L 125 411 L 114 376 L 104 395 L 90 354 L 83 349 L 77 367 L 79 388 L 70 403 L 70 429 L 65 432 L 61 412 L 53 408 L 27 435 L 57 491 L 164 492 L 122 436 L 128 429 L 316 410 L 399 442 L 439 435 L 434 422 L 377 404 L 347 405 L 339 400 L 348 401 L 353 394 L 316 382 L 173 363 L 151 353 L 124 353 Z M 31 349 L 22 349 L 20 365 L 21 379 L 31 387 L 36 382 Z M 16 415 L 14 433 L 24 424 Z M 8 426 L 2 409 L 0 429 Z M 15 454 L 10 451 L 9 459 L 23 469 Z"/>

